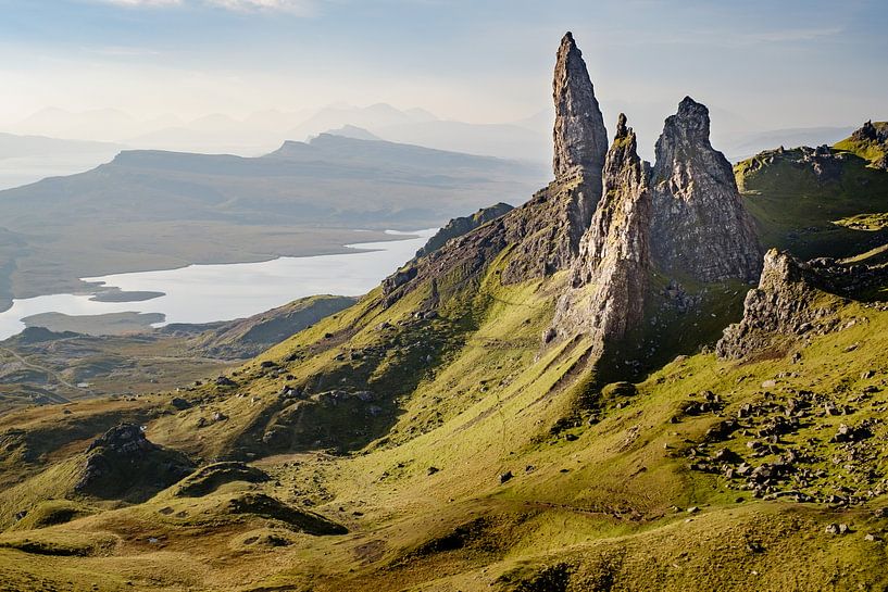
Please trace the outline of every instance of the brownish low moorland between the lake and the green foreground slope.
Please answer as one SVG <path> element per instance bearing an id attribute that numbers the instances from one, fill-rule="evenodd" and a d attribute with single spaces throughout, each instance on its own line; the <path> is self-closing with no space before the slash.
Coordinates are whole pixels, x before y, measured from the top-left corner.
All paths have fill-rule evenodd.
<path id="1" fill-rule="evenodd" d="M 353 298 L 317 295 L 249 318 L 139 327 L 124 335 L 30 327 L 0 342 L 0 411 L 189 389 L 353 303 Z"/>

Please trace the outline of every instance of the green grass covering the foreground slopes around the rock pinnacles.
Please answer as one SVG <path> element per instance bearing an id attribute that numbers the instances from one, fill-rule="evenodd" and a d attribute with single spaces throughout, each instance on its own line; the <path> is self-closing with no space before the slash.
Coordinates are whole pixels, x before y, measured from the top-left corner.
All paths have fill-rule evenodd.
<path id="1" fill-rule="evenodd" d="M 830 254 L 851 254 L 862 235 L 836 231 L 827 223 L 876 211 L 884 193 L 861 185 L 871 173 L 850 162 L 841 182 L 851 186 L 812 185 L 789 163 L 745 175 L 765 242 L 786 245 L 792 240 L 787 232 L 811 222 L 824 227 L 795 247 L 825 254 L 818 250 L 835 240 L 838 248 Z M 781 192 L 775 175 L 780 182 L 790 179 L 792 189 Z M 853 187 L 871 191 L 854 203 Z M 750 188 L 761 193 L 750 194 Z M 438 308 L 439 317 L 415 314 L 425 310 L 430 286 L 388 308 L 377 289 L 233 371 L 237 385 L 189 392 L 196 402 L 190 410 L 172 410 L 162 396 L 127 403 L 134 406 L 128 413 L 142 405 L 152 441 L 207 461 L 255 458 L 271 480 L 227 483 L 198 499 L 162 492 L 143 504 L 68 524 L 10 531 L 0 536 L 5 581 L 12 587 L 27 578 L 53 585 L 72 581 L 74 588 L 95 583 L 108 590 L 130 580 L 138 589 L 155 590 L 337 592 L 888 585 L 880 568 L 885 544 L 865 539 L 867 533 L 881 538 L 888 528 L 873 514 L 888 504 L 884 493 L 850 509 L 756 500 L 736 480 L 692 470 L 688 458 L 691 448 L 714 452 L 702 442 L 708 430 L 741 404 L 810 389 L 849 406 L 850 415 L 817 415 L 781 445 L 811 452 L 814 468 L 828 469 L 810 484 L 823 495 L 871 481 L 877 488 L 885 479 L 884 453 L 836 468 L 831 458 L 848 451 L 829 436 L 840 421 L 880 419 L 888 406 L 888 312 L 837 301 L 839 326 L 846 328 L 809 344 L 748 363 L 681 356 L 638 385 L 637 394 L 600 394 L 585 364 L 589 343 L 540 349 L 566 274 L 502 287 L 498 276 L 508 256 L 506 250 L 478 277 L 452 269 L 439 278 L 441 293 L 455 293 Z M 734 292 L 741 295 L 741 289 L 731 288 L 720 288 L 729 298 L 714 298 L 715 317 L 691 319 L 703 325 L 695 331 L 708 336 L 717 329 L 710 325 L 736 315 Z M 853 325 L 847 323 L 851 319 Z M 670 319 L 661 338 L 680 345 L 680 336 L 672 333 L 687 328 L 687 319 Z M 801 362 L 792 363 L 797 350 Z M 766 380 L 774 386 L 763 387 Z M 348 398 L 328 405 L 288 402 L 279 395 L 284 385 L 307 387 L 313 395 L 370 389 L 379 412 L 368 413 L 370 403 Z M 866 399 L 859 398 L 863 389 L 872 391 Z M 705 390 L 717 393 L 724 408 L 683 413 Z M 226 419 L 198 428 L 213 412 Z M 50 425 L 48 416 L 28 413 L 35 425 Z M 874 442 L 886 436 L 880 426 Z M 274 430 L 302 438 L 297 449 L 308 452 L 284 452 L 284 446 L 274 454 L 263 440 Z M 737 431 L 720 445 L 746 456 L 751 433 Z M 64 487 L 42 494 L 39 487 L 64 486 L 52 471 L 63 470 L 63 459 L 85 445 L 60 440 L 45 453 L 60 463 L 45 470 L 35 464 L 21 474 L 29 481 L 13 489 L 30 494 L 8 501 L 7 516 L 25 504 L 39 516 L 47 493 L 72 497 L 59 491 Z M 323 448 L 340 454 L 317 450 Z M 511 479 L 504 479 L 509 473 Z M 350 532 L 314 537 L 293 532 L 274 516 L 233 516 L 230 499 L 248 492 L 311 507 Z M 689 507 L 700 509 L 688 513 Z M 827 534 L 830 522 L 849 524 L 852 532 Z M 284 542 L 257 545 L 275 538 Z M 35 552 L 35 544 L 42 551 Z M 55 545 L 64 549 L 52 551 Z"/>

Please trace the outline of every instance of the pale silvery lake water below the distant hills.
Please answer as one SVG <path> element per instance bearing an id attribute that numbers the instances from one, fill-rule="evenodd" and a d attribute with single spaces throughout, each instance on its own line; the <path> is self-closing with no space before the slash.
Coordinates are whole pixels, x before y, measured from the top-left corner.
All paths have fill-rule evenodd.
<path id="1" fill-rule="evenodd" d="M 354 253 L 280 257 L 263 263 L 189 265 L 179 269 L 139 272 L 83 278 L 127 292 L 153 291 L 164 295 L 142 302 L 97 302 L 91 294 L 52 294 L 13 301 L 0 313 L 0 339 L 20 333 L 22 319 L 41 313 L 101 315 L 161 313 L 168 323 L 211 323 L 251 316 L 297 298 L 314 294 L 361 295 L 407 263 L 435 229 L 416 238 L 365 242 L 349 247 Z"/>

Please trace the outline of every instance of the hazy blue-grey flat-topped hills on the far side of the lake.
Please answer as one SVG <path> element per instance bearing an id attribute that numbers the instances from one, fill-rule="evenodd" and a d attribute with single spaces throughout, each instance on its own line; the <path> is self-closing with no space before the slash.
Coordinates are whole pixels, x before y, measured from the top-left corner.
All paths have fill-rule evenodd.
<path id="1" fill-rule="evenodd" d="M 321 135 L 261 158 L 124 151 L 0 191 L 0 299 L 89 290 L 82 277 L 346 252 L 518 200 L 538 167 Z M 2 305 L 0 301 L 0 305 Z"/>

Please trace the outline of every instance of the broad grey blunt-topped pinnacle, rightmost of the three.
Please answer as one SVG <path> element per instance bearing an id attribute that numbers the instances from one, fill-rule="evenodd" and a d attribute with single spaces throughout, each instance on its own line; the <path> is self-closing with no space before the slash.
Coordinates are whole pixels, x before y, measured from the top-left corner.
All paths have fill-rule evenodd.
<path id="1" fill-rule="evenodd" d="M 666 119 L 651 179 L 653 259 L 667 275 L 754 281 L 762 249 L 730 163 L 709 134 L 709 110 L 690 97 Z"/>

